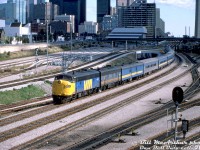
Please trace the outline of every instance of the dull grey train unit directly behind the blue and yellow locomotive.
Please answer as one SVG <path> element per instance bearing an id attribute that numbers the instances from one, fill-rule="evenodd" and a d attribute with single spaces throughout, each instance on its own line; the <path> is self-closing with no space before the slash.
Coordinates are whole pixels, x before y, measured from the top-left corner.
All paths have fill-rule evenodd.
<path id="1" fill-rule="evenodd" d="M 121 67 L 105 67 L 99 69 L 101 78 L 101 89 L 119 85 L 121 82 Z"/>

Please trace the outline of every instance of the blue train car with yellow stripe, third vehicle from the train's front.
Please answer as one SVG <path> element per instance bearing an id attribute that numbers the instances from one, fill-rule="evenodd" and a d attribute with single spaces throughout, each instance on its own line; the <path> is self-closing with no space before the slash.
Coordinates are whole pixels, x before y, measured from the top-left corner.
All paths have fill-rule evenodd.
<path id="1" fill-rule="evenodd" d="M 122 66 L 122 82 L 131 81 L 133 78 L 142 76 L 144 73 L 143 63 Z"/>

